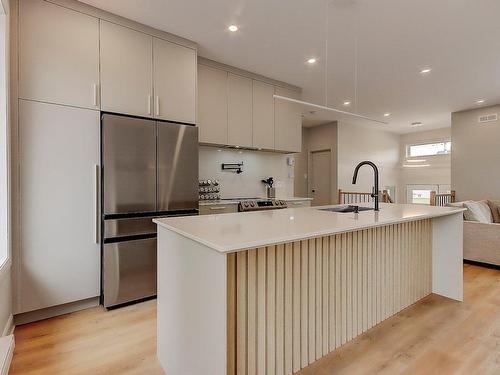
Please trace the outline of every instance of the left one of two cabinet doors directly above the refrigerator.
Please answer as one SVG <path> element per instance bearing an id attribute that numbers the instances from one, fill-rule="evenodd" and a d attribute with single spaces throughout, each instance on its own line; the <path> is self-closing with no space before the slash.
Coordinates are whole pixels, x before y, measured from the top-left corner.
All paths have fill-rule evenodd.
<path id="1" fill-rule="evenodd" d="M 152 116 L 153 37 L 101 20 L 101 107 Z"/>

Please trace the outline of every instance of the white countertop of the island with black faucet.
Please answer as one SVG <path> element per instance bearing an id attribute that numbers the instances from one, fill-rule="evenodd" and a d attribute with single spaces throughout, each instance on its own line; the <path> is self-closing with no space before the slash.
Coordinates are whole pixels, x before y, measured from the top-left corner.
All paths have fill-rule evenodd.
<path id="1" fill-rule="evenodd" d="M 326 207 L 333 206 L 321 208 Z M 384 203 L 380 204 L 379 212 L 362 211 L 359 214 L 321 211 L 318 208 L 184 216 L 153 221 L 163 228 L 226 253 L 464 211 L 456 207 Z"/>

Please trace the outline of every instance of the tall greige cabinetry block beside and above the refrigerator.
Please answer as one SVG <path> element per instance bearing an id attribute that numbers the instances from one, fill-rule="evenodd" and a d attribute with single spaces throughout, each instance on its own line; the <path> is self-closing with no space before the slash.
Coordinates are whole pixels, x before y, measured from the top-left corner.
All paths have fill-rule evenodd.
<path id="1" fill-rule="evenodd" d="M 197 56 L 189 41 L 83 3 L 16 4 L 19 314 L 99 296 L 99 110 L 195 123 Z"/>

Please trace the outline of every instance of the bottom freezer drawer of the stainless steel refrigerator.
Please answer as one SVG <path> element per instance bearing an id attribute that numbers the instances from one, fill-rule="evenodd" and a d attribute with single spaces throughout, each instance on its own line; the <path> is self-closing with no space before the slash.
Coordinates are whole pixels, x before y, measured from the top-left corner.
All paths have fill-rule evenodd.
<path id="1" fill-rule="evenodd" d="M 104 245 L 104 306 L 156 295 L 156 238 Z"/>

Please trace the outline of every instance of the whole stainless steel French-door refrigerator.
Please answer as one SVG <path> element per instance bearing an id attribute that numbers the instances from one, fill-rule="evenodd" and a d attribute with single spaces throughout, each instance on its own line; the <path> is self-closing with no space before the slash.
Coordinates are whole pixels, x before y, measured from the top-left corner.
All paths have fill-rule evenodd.
<path id="1" fill-rule="evenodd" d="M 101 302 L 156 295 L 153 218 L 198 214 L 198 128 L 101 115 Z"/>

